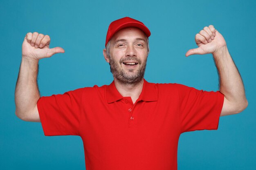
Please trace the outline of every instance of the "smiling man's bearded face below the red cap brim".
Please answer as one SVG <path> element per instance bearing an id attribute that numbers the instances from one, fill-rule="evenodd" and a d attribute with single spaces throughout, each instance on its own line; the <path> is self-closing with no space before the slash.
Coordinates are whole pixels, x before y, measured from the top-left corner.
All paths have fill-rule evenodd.
<path id="1" fill-rule="evenodd" d="M 110 40 L 110 71 L 122 84 L 136 84 L 145 73 L 147 37 L 135 27 L 121 29 Z M 106 58 L 106 57 L 105 57 Z"/>

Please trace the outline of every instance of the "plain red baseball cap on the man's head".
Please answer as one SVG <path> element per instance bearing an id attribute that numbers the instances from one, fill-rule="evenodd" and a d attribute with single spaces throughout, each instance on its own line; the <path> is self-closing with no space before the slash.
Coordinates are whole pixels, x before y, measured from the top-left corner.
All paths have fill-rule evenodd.
<path id="1" fill-rule="evenodd" d="M 115 20 L 110 23 L 108 26 L 108 32 L 107 32 L 107 37 L 106 37 L 106 44 L 105 47 L 108 44 L 108 41 L 112 38 L 112 36 L 119 31 L 120 29 L 124 29 L 127 27 L 137 27 L 141 29 L 147 37 L 150 36 L 150 31 L 149 29 L 140 21 L 132 19 L 130 17 L 124 17 L 118 20 Z"/>

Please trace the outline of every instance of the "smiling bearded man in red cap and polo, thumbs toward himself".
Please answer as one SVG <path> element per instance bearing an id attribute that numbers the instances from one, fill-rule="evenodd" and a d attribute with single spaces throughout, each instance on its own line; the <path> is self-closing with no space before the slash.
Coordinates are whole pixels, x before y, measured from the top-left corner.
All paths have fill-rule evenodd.
<path id="1" fill-rule="evenodd" d="M 176 170 L 181 133 L 217 130 L 220 116 L 240 113 L 248 102 L 226 42 L 213 25 L 195 35 L 198 48 L 186 56 L 213 54 L 220 75 L 216 92 L 147 82 L 149 36 L 140 21 L 113 21 L 103 55 L 114 81 L 40 97 L 38 60 L 64 50 L 49 49 L 48 35 L 27 33 L 15 91 L 16 115 L 41 122 L 46 136 L 81 136 L 87 170 Z"/>

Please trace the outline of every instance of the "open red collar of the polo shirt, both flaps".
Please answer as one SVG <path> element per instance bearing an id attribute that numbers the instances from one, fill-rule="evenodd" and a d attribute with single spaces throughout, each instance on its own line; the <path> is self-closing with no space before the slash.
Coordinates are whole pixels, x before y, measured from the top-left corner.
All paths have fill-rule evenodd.
<path id="1" fill-rule="evenodd" d="M 119 91 L 117 91 L 114 81 L 110 85 L 107 85 L 106 98 L 108 103 L 112 103 L 124 98 L 119 93 Z M 141 91 L 141 94 L 139 95 L 139 100 L 149 102 L 149 101 L 157 101 L 157 99 L 158 99 L 157 84 L 149 83 L 144 79 L 142 91 Z"/>

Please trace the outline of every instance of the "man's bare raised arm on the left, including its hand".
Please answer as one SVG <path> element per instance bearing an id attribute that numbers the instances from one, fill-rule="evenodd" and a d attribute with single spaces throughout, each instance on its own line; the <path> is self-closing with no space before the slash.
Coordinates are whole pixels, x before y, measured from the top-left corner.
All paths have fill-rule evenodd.
<path id="1" fill-rule="evenodd" d="M 50 37 L 37 32 L 27 33 L 22 43 L 22 60 L 15 88 L 15 114 L 22 120 L 40 122 L 37 109 L 39 60 L 65 52 L 61 47 L 49 49 L 49 44 Z"/>

